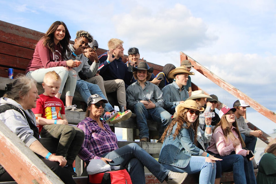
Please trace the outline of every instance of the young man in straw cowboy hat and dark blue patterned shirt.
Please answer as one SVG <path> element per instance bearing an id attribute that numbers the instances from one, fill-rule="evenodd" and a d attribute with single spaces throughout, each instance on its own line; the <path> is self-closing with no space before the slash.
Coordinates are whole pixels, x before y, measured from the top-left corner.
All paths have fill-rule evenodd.
<path id="1" fill-rule="evenodd" d="M 184 87 L 187 84 L 189 75 L 194 75 L 194 73 L 189 72 L 183 66 L 177 67 L 168 73 L 168 78 L 174 78 L 175 81 L 166 85 L 162 89 L 162 93 L 165 101 L 165 109 L 170 114 L 174 114 L 175 107 L 189 98 L 188 91 Z"/>

